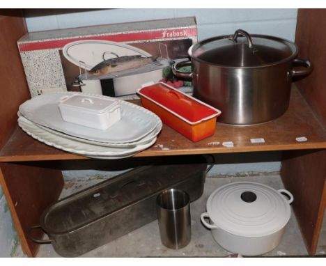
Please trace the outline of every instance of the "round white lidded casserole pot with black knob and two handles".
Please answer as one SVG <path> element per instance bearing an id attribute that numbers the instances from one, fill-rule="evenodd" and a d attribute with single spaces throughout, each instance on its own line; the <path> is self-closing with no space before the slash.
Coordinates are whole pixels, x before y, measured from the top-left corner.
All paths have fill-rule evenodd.
<path id="1" fill-rule="evenodd" d="M 227 251 L 257 256 L 272 251 L 281 242 L 292 202 L 293 196 L 286 189 L 233 182 L 210 194 L 201 221 Z M 207 218 L 211 224 L 205 221 Z"/>

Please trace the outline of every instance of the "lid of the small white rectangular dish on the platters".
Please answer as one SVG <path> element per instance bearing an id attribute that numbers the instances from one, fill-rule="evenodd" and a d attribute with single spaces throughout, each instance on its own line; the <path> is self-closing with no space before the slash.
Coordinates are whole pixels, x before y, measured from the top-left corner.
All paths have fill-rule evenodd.
<path id="1" fill-rule="evenodd" d="M 120 106 L 116 100 L 111 100 L 106 97 L 79 94 L 63 97 L 59 105 L 61 107 L 70 107 L 94 114 L 102 114 L 105 111 L 113 111 Z"/>

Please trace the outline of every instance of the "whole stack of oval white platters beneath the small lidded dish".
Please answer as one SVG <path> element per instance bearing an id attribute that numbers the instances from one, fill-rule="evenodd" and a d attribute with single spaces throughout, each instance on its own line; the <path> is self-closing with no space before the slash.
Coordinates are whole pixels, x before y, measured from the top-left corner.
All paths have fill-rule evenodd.
<path id="1" fill-rule="evenodd" d="M 162 121 L 153 112 L 104 95 L 96 96 L 117 100 L 121 112 L 121 119 L 107 130 L 66 122 L 61 116 L 59 103 L 67 95 L 72 93 L 47 93 L 27 100 L 20 105 L 18 125 L 34 139 L 49 146 L 98 159 L 131 157 L 152 146 L 162 130 Z"/>

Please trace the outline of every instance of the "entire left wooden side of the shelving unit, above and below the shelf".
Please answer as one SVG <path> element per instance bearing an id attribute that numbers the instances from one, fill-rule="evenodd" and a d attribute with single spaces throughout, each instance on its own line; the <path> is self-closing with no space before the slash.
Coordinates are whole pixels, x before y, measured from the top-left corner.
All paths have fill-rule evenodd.
<path id="1" fill-rule="evenodd" d="M 17 40 L 25 33 L 22 10 L 0 10 L 0 149 L 17 127 L 17 110 L 30 98 Z M 9 140 L 10 143 L 10 140 Z M 20 146 L 20 150 L 27 146 Z M 10 208 L 22 250 L 35 256 L 38 244 L 28 238 L 29 226 L 38 224 L 40 213 L 59 197 L 61 171 L 20 164 L 0 164 L 0 184 Z M 1 223 L 1 222 L 0 222 Z M 41 236 L 41 233 L 38 233 Z"/>

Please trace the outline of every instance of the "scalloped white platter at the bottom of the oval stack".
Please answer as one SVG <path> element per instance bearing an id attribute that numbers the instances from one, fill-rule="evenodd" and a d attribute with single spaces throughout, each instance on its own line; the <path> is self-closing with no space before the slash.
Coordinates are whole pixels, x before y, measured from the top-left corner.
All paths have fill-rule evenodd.
<path id="1" fill-rule="evenodd" d="M 82 143 L 72 139 L 66 139 L 63 136 L 52 134 L 48 131 L 33 124 L 28 119 L 21 116 L 18 118 L 18 125 L 30 136 L 38 141 L 45 143 L 54 148 L 64 150 L 66 152 L 74 153 L 85 157 L 98 158 L 98 159 L 121 159 L 131 157 L 141 150 L 152 146 L 156 137 L 149 143 L 136 146 L 134 148 L 109 148 L 104 146 L 92 145 L 89 143 Z"/>

